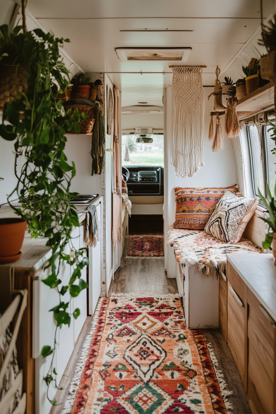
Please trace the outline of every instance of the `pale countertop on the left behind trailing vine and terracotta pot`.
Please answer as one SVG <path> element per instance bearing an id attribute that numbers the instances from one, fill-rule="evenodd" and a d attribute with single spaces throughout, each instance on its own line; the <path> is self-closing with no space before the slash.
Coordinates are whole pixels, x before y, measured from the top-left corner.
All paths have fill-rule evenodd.
<path id="1" fill-rule="evenodd" d="M 98 205 L 103 199 L 102 196 L 95 198 L 90 204 Z M 88 204 L 76 205 L 77 212 L 83 212 L 87 208 Z M 9 205 L 3 205 L 0 208 L 0 218 L 13 217 L 14 210 Z M 18 217 L 15 215 L 15 217 Z M 84 220 L 85 214 L 79 215 L 79 223 Z M 46 246 L 47 238 L 38 237 L 31 238 L 30 234 L 26 230 L 23 245 L 21 248 L 22 256 L 19 260 L 10 263 L 3 263 L 4 266 L 12 266 L 17 269 L 31 269 L 36 272 L 40 269 L 45 262 L 51 257 L 52 249 Z M 1 265 L 0 265 L 1 267 Z"/>

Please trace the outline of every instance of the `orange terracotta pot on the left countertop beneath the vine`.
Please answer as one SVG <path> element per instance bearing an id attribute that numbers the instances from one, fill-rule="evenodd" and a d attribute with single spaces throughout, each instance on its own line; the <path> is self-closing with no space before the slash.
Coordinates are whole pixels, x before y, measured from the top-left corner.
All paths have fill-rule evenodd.
<path id="1" fill-rule="evenodd" d="M 0 219 L 0 262 L 12 262 L 21 256 L 27 222 L 20 218 Z"/>

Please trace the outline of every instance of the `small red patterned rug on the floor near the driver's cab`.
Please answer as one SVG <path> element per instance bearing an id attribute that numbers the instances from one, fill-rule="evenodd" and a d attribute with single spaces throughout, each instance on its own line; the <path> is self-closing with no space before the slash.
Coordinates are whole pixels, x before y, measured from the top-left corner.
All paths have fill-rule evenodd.
<path id="1" fill-rule="evenodd" d="M 129 236 L 127 258 L 162 258 L 163 236 Z"/>

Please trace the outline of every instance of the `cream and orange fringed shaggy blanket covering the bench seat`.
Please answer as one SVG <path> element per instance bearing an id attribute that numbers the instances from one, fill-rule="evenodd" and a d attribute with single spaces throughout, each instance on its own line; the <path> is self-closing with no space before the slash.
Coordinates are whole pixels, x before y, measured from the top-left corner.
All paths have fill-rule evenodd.
<path id="1" fill-rule="evenodd" d="M 262 253 L 262 249 L 251 241 L 242 238 L 236 244 L 223 243 L 200 230 L 168 229 L 167 244 L 173 244 L 175 258 L 180 264 L 197 265 L 203 273 L 210 268 L 223 270 L 226 265 L 227 253 Z"/>

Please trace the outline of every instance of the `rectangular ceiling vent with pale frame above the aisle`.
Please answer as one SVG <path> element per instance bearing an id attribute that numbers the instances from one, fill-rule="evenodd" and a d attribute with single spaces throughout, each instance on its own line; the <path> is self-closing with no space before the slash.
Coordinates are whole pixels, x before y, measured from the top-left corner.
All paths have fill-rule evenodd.
<path id="1" fill-rule="evenodd" d="M 121 62 L 148 60 L 160 62 L 187 62 L 192 48 L 117 48 Z"/>

